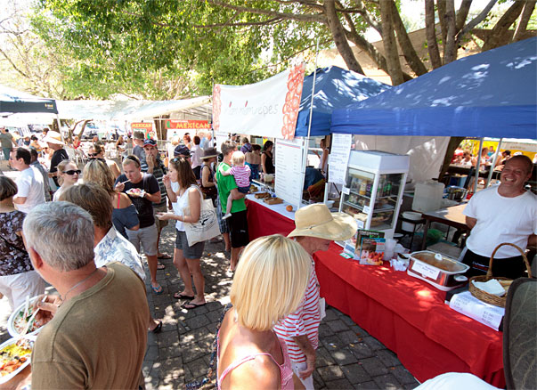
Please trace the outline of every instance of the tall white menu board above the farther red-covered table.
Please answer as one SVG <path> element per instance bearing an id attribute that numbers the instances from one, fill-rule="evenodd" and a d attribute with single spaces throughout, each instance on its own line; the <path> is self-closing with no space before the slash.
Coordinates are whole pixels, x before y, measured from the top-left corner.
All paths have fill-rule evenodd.
<path id="1" fill-rule="evenodd" d="M 274 191 L 278 198 L 296 207 L 302 201 L 303 151 L 304 142 L 302 139 L 285 141 L 276 138 Z"/>

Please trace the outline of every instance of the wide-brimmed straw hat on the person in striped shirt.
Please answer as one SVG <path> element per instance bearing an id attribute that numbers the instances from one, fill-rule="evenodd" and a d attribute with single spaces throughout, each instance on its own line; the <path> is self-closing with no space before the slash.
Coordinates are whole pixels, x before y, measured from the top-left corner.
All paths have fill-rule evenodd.
<path id="1" fill-rule="evenodd" d="M 295 213 L 296 229 L 288 237 L 316 237 L 325 240 L 349 240 L 357 230 L 356 221 L 345 213 L 330 213 L 324 203 L 299 208 Z"/>

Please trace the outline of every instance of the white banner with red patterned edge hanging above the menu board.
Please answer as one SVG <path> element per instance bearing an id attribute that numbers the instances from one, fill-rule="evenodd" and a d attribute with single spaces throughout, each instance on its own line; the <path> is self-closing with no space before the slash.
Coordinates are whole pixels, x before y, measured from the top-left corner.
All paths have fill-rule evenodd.
<path id="1" fill-rule="evenodd" d="M 293 139 L 304 83 L 304 64 L 250 85 L 213 89 L 217 132 Z"/>

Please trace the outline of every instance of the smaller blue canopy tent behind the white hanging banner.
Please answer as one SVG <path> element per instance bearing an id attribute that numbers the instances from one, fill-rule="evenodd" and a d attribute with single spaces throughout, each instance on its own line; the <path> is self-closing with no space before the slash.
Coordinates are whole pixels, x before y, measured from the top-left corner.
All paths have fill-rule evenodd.
<path id="1" fill-rule="evenodd" d="M 313 73 L 304 78 L 295 136 L 307 136 L 312 104 L 312 85 Z M 390 85 L 380 83 L 351 70 L 336 66 L 317 69 L 310 135 L 330 134 L 330 118 L 333 110 L 375 96 L 388 88 Z"/>

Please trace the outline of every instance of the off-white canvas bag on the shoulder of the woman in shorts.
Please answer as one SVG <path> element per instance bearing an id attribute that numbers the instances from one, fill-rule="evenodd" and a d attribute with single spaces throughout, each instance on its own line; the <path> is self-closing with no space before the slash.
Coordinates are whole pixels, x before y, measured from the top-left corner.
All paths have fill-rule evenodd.
<path id="1" fill-rule="evenodd" d="M 198 187 L 196 189 L 199 191 Z M 213 200 L 203 199 L 201 191 L 199 191 L 199 196 L 201 197 L 201 204 L 199 206 L 198 222 L 183 223 L 189 247 L 220 235 L 220 227 L 216 217 L 216 208 L 213 206 Z M 183 209 L 183 215 L 191 215 L 190 207 Z"/>

